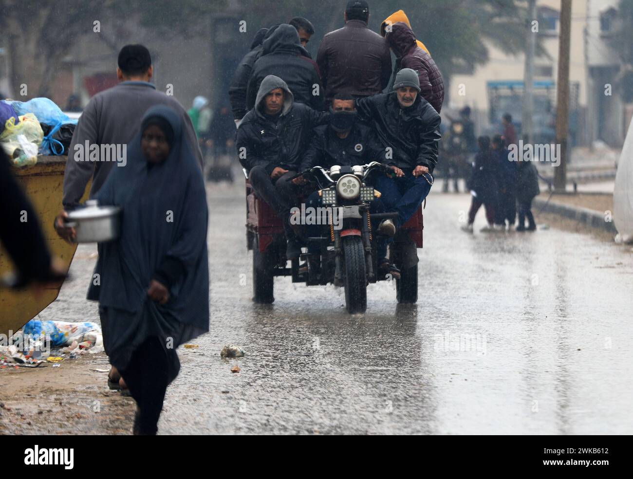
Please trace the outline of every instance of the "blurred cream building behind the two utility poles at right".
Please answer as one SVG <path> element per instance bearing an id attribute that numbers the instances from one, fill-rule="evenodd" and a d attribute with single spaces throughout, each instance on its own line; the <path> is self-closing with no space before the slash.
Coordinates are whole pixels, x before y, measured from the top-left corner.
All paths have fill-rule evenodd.
<path id="1" fill-rule="evenodd" d="M 558 75 L 558 35 L 560 0 L 537 0 L 538 35 L 548 56 L 534 60 L 535 133 L 551 135 L 555 121 L 556 76 Z M 586 0 L 572 2 L 570 60 L 570 134 L 572 144 L 586 144 L 587 74 L 584 29 Z M 503 53 L 487 43 L 490 60 L 470 74 L 453 75 L 449 89 L 449 109 L 465 105 L 473 109 L 478 134 L 492 133 L 499 118 L 508 110 L 520 128 L 525 55 Z M 443 109 L 442 109 L 443 112 Z"/>

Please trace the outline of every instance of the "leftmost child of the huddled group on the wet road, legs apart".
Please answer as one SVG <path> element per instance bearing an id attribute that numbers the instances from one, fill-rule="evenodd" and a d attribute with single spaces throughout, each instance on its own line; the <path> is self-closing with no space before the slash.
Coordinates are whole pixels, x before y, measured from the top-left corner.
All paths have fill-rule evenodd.
<path id="1" fill-rule="evenodd" d="M 470 211 L 468 211 L 468 224 L 461 227 L 462 230 L 472 233 L 475 215 L 482 204 L 486 207 L 487 227 L 481 229 L 482 232 L 494 230 L 494 207 L 497 202 L 497 159 L 490 149 L 490 137 L 479 137 L 477 139 L 479 152 L 475 155 L 473 170 L 468 189 L 472 194 Z"/>

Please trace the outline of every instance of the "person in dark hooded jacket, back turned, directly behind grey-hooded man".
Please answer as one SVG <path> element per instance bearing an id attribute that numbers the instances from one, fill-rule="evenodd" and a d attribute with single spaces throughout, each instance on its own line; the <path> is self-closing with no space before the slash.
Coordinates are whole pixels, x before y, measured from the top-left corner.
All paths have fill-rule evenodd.
<path id="1" fill-rule="evenodd" d="M 268 75 L 282 78 L 292 91 L 294 101 L 322 109 L 318 66 L 308 58 L 308 52 L 301 46 L 299 34 L 292 25 L 282 23 L 264 40 L 261 57 L 254 63 L 248 82 L 246 106 L 249 109 L 254 108 L 261 81 Z"/>

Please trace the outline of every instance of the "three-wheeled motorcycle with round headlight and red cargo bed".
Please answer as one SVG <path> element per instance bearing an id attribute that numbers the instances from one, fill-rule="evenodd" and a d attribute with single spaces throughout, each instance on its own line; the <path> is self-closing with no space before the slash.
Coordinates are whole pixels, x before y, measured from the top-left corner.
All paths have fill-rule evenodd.
<path id="1" fill-rule="evenodd" d="M 282 221 L 275 211 L 257 197 L 246 179 L 246 244 L 253 251 L 253 301 L 270 304 L 274 301 L 275 276 L 290 276 L 293 283 L 344 287 L 345 305 L 349 313 L 364 313 L 367 309 L 367 284 L 391 279 L 378 273 L 377 242 L 372 230 L 385 218 L 397 214 L 370 213 L 370 204 L 380 192 L 370 184 L 370 177 L 385 174 L 387 166 L 373 161 L 368 165 L 332 166 L 330 170 L 315 166 L 299 175 L 318 187 L 320 206 L 337 209 L 336 215 L 320 227 L 320 235 L 307 237 L 312 250 L 318 245 L 320 263 L 313 268 L 299 268 L 299 259 L 287 267 L 285 235 Z M 246 172 L 245 172 L 246 173 Z M 396 298 L 399 303 L 413 303 L 418 299 L 418 255 L 422 247 L 422 206 L 398 230 L 391 242 L 391 261 L 400 270 L 396 279 Z"/>

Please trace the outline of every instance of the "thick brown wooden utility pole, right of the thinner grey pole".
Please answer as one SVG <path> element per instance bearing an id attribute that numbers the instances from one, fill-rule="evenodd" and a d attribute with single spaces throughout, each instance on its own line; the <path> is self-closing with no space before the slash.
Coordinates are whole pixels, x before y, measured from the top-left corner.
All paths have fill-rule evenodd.
<path id="1" fill-rule="evenodd" d="M 569 54 L 572 0 L 560 2 L 558 80 L 556 85 L 556 144 L 560 144 L 560 165 L 554 172 L 554 189 L 565 192 L 567 184 L 567 136 L 569 132 Z"/>

